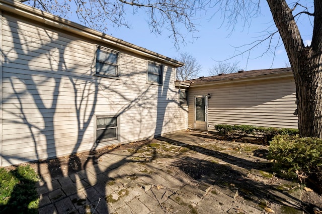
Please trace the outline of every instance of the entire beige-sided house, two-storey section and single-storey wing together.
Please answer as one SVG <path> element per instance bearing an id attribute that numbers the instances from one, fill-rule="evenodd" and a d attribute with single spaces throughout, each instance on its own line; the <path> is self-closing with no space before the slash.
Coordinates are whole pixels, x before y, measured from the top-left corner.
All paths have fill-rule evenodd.
<path id="1" fill-rule="evenodd" d="M 181 62 L 16 1 L 0 10 L 0 166 L 215 124 L 297 128 L 289 68 L 176 82 Z"/>

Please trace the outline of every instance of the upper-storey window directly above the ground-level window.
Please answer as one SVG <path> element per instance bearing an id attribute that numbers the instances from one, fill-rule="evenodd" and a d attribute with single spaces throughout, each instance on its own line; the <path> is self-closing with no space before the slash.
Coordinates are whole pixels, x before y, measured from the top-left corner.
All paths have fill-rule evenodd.
<path id="1" fill-rule="evenodd" d="M 103 77 L 118 77 L 119 53 L 98 47 L 96 50 L 95 74 Z"/>

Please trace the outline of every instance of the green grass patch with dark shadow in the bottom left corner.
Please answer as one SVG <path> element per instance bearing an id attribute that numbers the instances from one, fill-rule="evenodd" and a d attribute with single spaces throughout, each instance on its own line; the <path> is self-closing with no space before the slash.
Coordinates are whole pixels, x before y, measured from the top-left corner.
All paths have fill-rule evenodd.
<path id="1" fill-rule="evenodd" d="M 38 177 L 29 166 L 0 168 L 0 213 L 38 213 Z"/>

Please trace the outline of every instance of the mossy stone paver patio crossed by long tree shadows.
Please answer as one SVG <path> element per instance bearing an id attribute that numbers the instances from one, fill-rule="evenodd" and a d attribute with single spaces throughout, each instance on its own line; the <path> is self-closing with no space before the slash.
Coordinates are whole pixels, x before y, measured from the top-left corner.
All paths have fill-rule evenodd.
<path id="1" fill-rule="evenodd" d="M 253 148 L 267 149 L 179 132 L 88 155 L 73 172 L 64 163 L 60 177 L 42 163 L 39 213 L 302 213 L 298 184 L 266 172 Z"/>

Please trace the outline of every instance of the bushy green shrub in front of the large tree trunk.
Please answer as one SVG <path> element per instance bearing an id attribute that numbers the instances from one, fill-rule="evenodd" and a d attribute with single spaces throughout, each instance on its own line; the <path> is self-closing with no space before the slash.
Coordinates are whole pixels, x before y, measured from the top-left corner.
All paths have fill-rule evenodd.
<path id="1" fill-rule="evenodd" d="M 308 178 L 322 189 L 322 139 L 277 135 L 270 142 L 268 158 L 286 178 Z"/>

